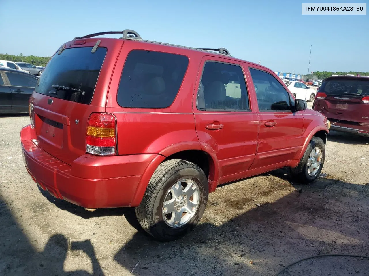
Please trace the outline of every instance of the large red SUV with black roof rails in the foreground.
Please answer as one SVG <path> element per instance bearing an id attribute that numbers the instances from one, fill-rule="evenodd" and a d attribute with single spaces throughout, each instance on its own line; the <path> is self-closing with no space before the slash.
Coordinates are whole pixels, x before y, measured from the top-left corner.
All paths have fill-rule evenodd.
<path id="1" fill-rule="evenodd" d="M 93 38 L 110 33 L 123 37 Z M 135 207 L 146 232 L 174 240 L 219 184 L 282 167 L 302 183 L 318 177 L 328 121 L 306 107 L 273 71 L 224 48 L 95 33 L 62 45 L 41 75 L 24 162 L 56 198 Z"/>

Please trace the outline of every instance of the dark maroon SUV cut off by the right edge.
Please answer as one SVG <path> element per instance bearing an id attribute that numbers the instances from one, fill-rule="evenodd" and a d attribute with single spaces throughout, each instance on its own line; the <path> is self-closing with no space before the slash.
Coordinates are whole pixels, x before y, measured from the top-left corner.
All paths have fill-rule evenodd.
<path id="1" fill-rule="evenodd" d="M 328 117 L 332 130 L 369 135 L 369 77 L 325 79 L 313 109 Z"/>

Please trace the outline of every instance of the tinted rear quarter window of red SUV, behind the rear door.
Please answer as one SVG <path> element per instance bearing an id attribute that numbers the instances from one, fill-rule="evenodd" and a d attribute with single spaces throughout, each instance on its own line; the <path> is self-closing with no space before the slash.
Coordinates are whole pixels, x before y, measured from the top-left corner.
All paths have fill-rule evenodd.
<path id="1" fill-rule="evenodd" d="M 182 84 L 188 58 L 178 54 L 133 50 L 125 61 L 117 102 L 122 107 L 165 108 Z"/>

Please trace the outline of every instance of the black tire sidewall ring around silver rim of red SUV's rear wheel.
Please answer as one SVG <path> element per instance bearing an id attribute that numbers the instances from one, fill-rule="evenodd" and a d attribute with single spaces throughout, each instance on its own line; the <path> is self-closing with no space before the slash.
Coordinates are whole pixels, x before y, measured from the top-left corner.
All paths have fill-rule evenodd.
<path id="1" fill-rule="evenodd" d="M 184 224 L 184 226 L 178 228 L 172 228 L 166 224 L 164 221 L 162 206 L 165 200 L 165 196 L 169 189 L 178 181 L 183 179 L 191 179 L 196 182 L 199 187 L 199 207 L 196 210 L 196 214 L 190 219 L 189 222 Z M 154 201 L 154 210 L 152 212 L 152 221 L 154 222 L 155 231 L 165 240 L 174 240 L 179 236 L 182 236 L 193 229 L 194 226 L 200 221 L 207 204 L 208 199 L 208 183 L 205 174 L 202 171 L 196 170 L 194 168 L 186 167 L 175 171 L 173 174 L 168 176 L 163 185 L 156 195 Z M 150 230 L 151 231 L 151 230 Z M 152 232 L 152 231 L 151 231 Z"/>

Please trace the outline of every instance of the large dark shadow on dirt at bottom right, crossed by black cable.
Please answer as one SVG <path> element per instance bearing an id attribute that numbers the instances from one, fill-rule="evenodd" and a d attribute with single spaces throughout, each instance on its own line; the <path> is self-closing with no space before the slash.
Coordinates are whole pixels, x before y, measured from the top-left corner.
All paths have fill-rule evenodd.
<path id="1" fill-rule="evenodd" d="M 289 179 L 284 170 L 276 174 Z M 357 229 L 342 231 L 340 227 L 342 223 L 358 224 L 360 207 L 355 212 L 337 206 L 345 195 L 369 195 L 369 187 L 326 178 L 315 184 L 294 185 L 303 189 L 301 194 L 294 191 L 276 202 L 264 202 L 220 225 L 205 219 L 189 235 L 172 243 L 159 243 L 138 232 L 114 259 L 127 269 L 139 261 L 134 275 L 258 276 L 275 275 L 283 266 L 296 261 L 296 256 L 366 255 L 369 252 L 366 222 Z M 333 186 L 340 187 L 334 199 L 326 194 Z M 362 210 L 368 214 L 368 205 Z M 366 275 L 369 269 L 368 260 L 332 257 L 328 266 L 326 261 L 323 258 L 306 261 L 307 265 L 293 266 L 281 275 Z M 265 273 L 263 267 L 271 269 Z"/>

